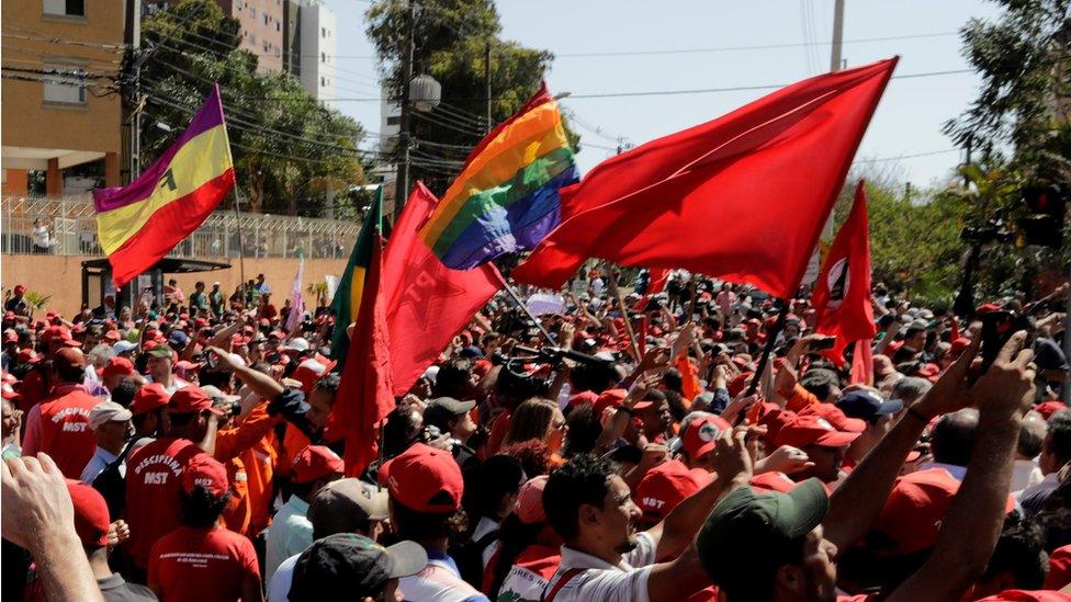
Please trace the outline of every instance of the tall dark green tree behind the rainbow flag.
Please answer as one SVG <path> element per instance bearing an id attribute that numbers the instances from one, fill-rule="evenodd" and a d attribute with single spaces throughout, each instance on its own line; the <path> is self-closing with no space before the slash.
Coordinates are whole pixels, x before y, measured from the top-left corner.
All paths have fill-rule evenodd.
<path id="1" fill-rule="evenodd" d="M 401 98 L 406 55 L 407 0 L 380 0 L 368 10 L 367 29 L 382 61 L 392 98 Z M 429 113 L 413 111 L 410 180 L 424 180 L 441 194 L 469 150 L 489 129 L 484 79 L 491 50 L 492 124 L 521 107 L 536 92 L 553 60 L 546 50 L 498 37 L 501 25 L 492 0 L 441 0 L 415 4 L 414 75 L 428 73 L 442 84 L 442 103 Z M 577 148 L 579 140 L 566 133 Z M 386 152 L 396 152 L 393 143 Z"/>

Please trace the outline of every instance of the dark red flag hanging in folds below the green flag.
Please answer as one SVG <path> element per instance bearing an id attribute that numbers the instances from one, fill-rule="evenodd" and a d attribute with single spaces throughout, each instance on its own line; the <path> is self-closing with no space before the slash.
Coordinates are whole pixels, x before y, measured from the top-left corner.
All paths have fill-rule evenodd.
<path id="1" fill-rule="evenodd" d="M 379 216 L 380 212 L 376 211 Z M 381 294 L 383 235 L 373 231 L 372 255 L 361 293 L 363 309 L 353 323 L 349 351 L 342 368 L 330 431 L 346 438 L 346 474 L 358 477 L 375 458 L 380 423 L 394 409 L 391 380 L 391 352 L 386 326 L 386 304 Z M 347 325 L 338 325 L 346 328 Z"/>

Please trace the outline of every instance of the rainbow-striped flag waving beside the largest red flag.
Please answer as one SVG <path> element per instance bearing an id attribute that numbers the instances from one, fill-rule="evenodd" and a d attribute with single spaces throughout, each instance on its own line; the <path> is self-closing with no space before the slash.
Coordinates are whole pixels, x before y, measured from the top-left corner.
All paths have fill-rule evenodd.
<path id="1" fill-rule="evenodd" d="M 578 180 L 557 103 L 541 84 L 476 145 L 419 236 L 454 270 L 532 249 L 561 220 L 557 190 Z"/>

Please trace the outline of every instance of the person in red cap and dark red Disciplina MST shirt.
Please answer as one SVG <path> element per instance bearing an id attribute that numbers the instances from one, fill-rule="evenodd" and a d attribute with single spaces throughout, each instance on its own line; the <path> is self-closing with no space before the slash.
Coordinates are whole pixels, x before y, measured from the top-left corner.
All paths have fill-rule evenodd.
<path id="1" fill-rule="evenodd" d="M 139 570 L 148 568 L 153 542 L 179 526 L 182 473 L 193 456 L 215 447 L 223 414 L 193 386 L 176 391 L 167 411 L 167 436 L 134 450 L 126 461 L 126 521 L 131 525 L 126 549 Z"/>

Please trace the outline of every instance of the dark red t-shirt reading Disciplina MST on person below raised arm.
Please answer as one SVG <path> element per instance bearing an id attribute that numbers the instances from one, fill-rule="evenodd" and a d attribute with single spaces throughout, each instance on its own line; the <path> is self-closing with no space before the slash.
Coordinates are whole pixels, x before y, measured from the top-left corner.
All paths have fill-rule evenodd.
<path id="1" fill-rule="evenodd" d="M 190 459 L 204 452 L 185 439 L 158 439 L 126 458 L 125 546 L 138 568 L 149 565 L 153 542 L 179 527 L 179 487 Z"/>

